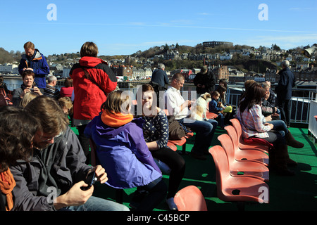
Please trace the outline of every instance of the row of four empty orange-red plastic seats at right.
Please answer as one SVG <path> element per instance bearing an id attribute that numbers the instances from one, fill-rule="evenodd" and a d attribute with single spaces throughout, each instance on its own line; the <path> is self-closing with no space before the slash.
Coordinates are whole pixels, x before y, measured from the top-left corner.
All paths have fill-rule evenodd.
<path id="1" fill-rule="evenodd" d="M 242 203 L 268 203 L 268 147 L 244 143 L 239 120 L 232 119 L 228 134 L 221 134 L 221 146 L 213 146 L 209 153 L 216 166 L 217 195 L 220 200 Z"/>

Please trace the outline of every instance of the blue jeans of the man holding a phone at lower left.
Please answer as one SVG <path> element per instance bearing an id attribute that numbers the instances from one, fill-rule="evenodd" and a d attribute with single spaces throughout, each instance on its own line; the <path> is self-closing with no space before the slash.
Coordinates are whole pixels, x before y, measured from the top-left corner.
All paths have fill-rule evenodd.
<path id="1" fill-rule="evenodd" d="M 125 205 L 106 200 L 104 198 L 90 197 L 83 205 L 68 206 L 61 211 L 130 211 Z"/>

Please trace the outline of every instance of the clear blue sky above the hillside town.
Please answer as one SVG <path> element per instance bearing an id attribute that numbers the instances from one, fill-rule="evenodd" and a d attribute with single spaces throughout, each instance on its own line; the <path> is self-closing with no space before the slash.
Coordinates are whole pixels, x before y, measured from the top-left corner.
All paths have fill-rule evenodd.
<path id="1" fill-rule="evenodd" d="M 292 49 L 317 43 L 317 1 L 12 0 L 1 2 L 0 30 L 6 51 L 24 51 L 32 41 L 44 56 L 80 51 L 85 41 L 97 44 L 99 56 L 204 41 Z"/>

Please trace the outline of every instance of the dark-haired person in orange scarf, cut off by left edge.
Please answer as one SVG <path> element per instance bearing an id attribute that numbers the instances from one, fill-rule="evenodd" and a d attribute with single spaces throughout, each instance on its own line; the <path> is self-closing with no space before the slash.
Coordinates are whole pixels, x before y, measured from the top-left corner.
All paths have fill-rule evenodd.
<path id="1" fill-rule="evenodd" d="M 39 123 L 23 109 L 6 106 L 0 108 L 0 124 L 0 211 L 10 211 L 15 180 L 9 167 L 16 160 L 29 158 Z"/>

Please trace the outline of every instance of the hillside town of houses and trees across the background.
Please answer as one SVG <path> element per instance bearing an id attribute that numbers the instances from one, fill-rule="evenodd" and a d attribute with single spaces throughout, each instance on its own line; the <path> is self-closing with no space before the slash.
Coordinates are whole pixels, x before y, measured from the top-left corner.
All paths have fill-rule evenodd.
<path id="1" fill-rule="evenodd" d="M 229 83 L 235 84 L 237 82 L 244 82 L 246 79 L 254 79 L 257 82 L 264 80 L 270 81 L 272 84 L 278 82 L 279 77 L 276 75 L 282 60 L 289 60 L 292 65 L 292 72 L 296 79 L 301 82 L 311 83 L 316 85 L 316 53 L 311 54 L 310 57 L 303 55 L 299 48 L 290 50 L 280 49 L 278 46 L 271 47 L 260 46 L 258 49 L 254 47 L 236 48 L 232 42 L 224 41 L 206 41 L 197 46 L 206 49 L 216 49 L 218 46 L 223 46 L 225 51 L 215 53 L 193 53 L 180 52 L 178 44 L 170 46 L 156 46 L 159 54 L 144 58 L 142 51 L 138 51 L 131 56 L 121 56 L 116 58 L 103 58 L 108 62 L 113 72 L 115 72 L 118 81 L 140 81 L 151 78 L 152 72 L 156 69 L 157 63 L 164 62 L 201 62 L 212 70 L 216 79 L 226 79 Z M 308 48 L 306 46 L 305 48 Z M 221 48 L 219 48 L 221 49 Z M 214 51 L 213 51 L 214 52 Z M 71 56 L 71 57 L 70 57 Z M 255 65 L 251 65 L 249 70 L 241 69 L 239 65 L 235 65 L 235 60 L 253 60 Z M 55 75 L 59 79 L 68 77 L 70 68 L 80 59 L 79 53 L 65 53 L 61 55 L 54 54 L 53 56 L 46 56 L 49 63 L 50 74 Z M 230 64 L 231 63 L 231 64 Z M 261 71 L 256 63 L 264 64 Z M 198 65 L 198 64 L 197 64 Z M 190 83 L 195 75 L 200 72 L 199 66 L 197 68 L 176 68 L 168 70 L 166 66 L 166 73 L 169 76 L 177 72 L 185 75 L 186 82 Z M 4 63 L 0 65 L 0 75 L 18 75 L 18 62 Z"/>

